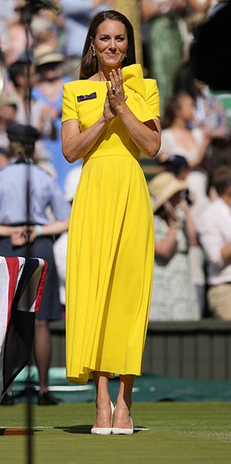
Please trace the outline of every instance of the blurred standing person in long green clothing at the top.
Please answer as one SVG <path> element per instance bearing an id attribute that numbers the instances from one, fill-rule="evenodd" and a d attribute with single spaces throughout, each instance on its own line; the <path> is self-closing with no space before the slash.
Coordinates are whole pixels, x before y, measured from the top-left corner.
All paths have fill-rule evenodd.
<path id="1" fill-rule="evenodd" d="M 183 58 L 178 19 L 185 5 L 186 0 L 141 0 L 143 20 L 148 21 L 148 68 L 150 77 L 158 81 L 160 114 L 165 99 L 173 93 L 173 81 Z"/>

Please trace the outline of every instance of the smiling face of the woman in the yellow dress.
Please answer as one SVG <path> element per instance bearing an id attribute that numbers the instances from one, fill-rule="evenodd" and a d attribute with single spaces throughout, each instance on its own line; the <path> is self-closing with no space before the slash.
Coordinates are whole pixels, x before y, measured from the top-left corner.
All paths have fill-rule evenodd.
<path id="1" fill-rule="evenodd" d="M 128 49 L 128 34 L 125 25 L 120 21 L 106 19 L 98 26 L 96 38 L 92 39 L 91 46 L 96 51 L 99 65 L 118 69 Z"/>

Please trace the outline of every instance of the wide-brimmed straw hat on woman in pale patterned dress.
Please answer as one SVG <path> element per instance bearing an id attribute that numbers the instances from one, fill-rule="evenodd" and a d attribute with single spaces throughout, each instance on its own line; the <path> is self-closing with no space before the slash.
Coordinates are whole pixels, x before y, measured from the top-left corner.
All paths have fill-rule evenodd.
<path id="1" fill-rule="evenodd" d="M 153 197 L 153 212 L 158 211 L 175 193 L 188 188 L 188 183 L 179 181 L 178 178 L 169 172 L 157 174 L 149 183 L 148 189 Z"/>

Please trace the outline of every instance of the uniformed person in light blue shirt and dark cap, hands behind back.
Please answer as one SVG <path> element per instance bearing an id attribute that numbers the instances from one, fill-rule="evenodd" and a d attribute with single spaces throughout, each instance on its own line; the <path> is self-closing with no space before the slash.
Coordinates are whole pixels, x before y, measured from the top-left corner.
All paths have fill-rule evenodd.
<path id="1" fill-rule="evenodd" d="M 14 161 L 0 171 L 0 255 L 39 256 L 48 263 L 40 311 L 36 316 L 34 355 L 39 370 L 39 405 L 56 404 L 48 392 L 48 368 L 51 360 L 49 321 L 61 318 L 58 279 L 53 258 L 53 236 L 68 229 L 70 206 L 57 182 L 38 168 L 33 157 L 36 128 L 12 123 L 8 128 L 10 153 Z M 26 212 L 27 176 L 30 178 L 30 214 Z M 49 221 L 49 205 L 54 220 Z M 30 224 L 30 227 L 26 224 Z"/>

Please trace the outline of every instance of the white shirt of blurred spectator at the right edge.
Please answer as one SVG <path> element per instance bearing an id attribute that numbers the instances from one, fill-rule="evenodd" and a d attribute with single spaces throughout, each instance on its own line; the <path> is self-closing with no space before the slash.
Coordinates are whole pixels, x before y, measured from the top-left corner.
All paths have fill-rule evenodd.
<path id="1" fill-rule="evenodd" d="M 202 213 L 199 234 L 208 258 L 208 283 L 231 282 L 231 263 L 225 264 L 221 255 L 222 248 L 231 243 L 231 208 L 221 198 Z"/>

